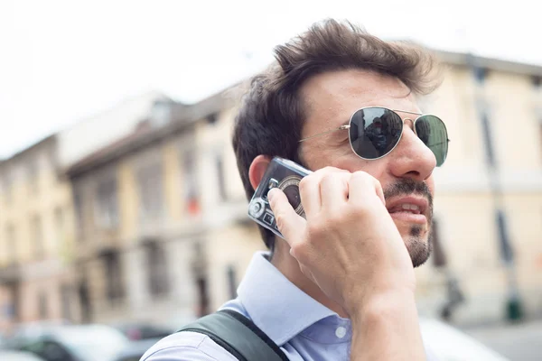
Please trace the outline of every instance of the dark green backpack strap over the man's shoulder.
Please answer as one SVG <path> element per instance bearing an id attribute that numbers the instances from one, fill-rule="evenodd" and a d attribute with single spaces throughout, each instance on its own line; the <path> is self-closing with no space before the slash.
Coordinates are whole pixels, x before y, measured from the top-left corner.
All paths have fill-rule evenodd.
<path id="1" fill-rule="evenodd" d="M 177 332 L 183 331 L 209 336 L 239 361 L 288 361 L 271 338 L 250 319 L 233 310 L 211 313 Z"/>

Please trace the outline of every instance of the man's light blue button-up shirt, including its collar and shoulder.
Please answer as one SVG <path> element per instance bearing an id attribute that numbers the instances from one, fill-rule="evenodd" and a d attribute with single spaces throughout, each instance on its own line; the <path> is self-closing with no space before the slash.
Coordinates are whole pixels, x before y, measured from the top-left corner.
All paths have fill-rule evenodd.
<path id="1" fill-rule="evenodd" d="M 350 359 L 350 319 L 335 312 L 297 288 L 258 252 L 238 287 L 238 298 L 221 309 L 236 310 L 256 326 L 294 361 Z M 428 360 L 435 360 L 428 357 Z M 237 361 L 208 336 L 179 332 L 151 347 L 140 361 Z"/>

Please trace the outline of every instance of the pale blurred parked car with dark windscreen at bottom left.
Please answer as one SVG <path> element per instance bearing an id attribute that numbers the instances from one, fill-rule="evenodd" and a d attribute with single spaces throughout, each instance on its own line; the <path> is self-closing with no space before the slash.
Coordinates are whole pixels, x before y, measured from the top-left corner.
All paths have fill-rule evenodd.
<path id="1" fill-rule="evenodd" d="M 41 329 L 34 337 L 17 339 L 14 346 L 45 361 L 110 361 L 128 344 L 117 329 L 82 325 Z"/>

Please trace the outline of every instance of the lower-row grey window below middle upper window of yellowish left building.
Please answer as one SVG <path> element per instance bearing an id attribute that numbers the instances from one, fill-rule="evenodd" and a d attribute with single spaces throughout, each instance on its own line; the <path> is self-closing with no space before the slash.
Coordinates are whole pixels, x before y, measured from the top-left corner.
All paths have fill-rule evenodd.
<path id="1" fill-rule="evenodd" d="M 169 292 L 169 280 L 164 248 L 156 241 L 148 242 L 145 248 L 149 291 L 153 296 L 166 294 Z"/>

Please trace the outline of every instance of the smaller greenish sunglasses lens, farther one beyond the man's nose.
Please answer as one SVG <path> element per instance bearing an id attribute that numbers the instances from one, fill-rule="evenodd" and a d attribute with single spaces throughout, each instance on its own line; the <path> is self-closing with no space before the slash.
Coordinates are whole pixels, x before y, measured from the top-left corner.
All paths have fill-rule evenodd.
<path id="1" fill-rule="evenodd" d="M 443 165 L 448 154 L 448 132 L 444 122 L 436 116 L 420 116 L 416 120 L 416 134 L 435 154 L 436 166 Z"/>

